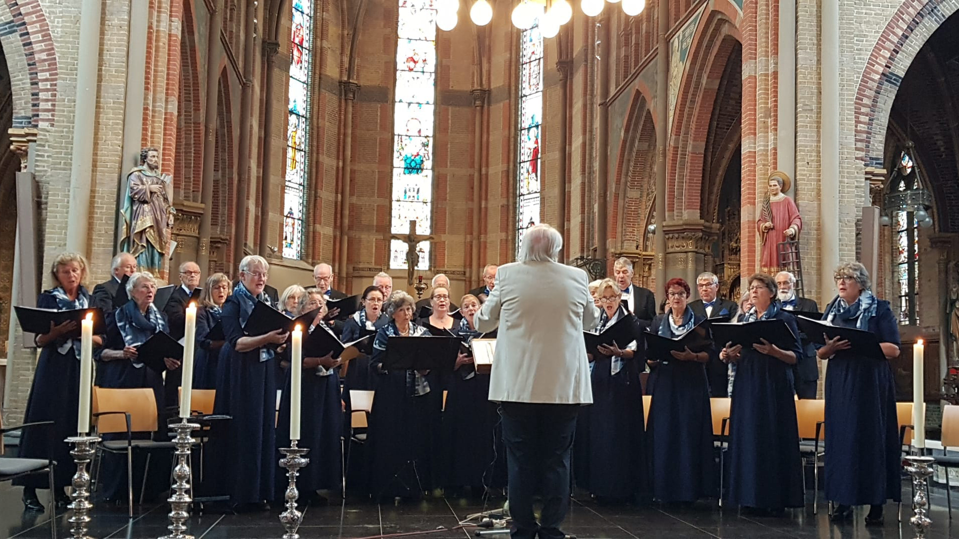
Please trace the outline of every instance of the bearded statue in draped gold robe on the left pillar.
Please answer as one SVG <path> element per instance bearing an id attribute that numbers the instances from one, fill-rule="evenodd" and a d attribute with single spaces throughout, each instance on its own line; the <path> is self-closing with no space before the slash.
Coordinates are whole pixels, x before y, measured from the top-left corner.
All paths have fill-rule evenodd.
<path id="1" fill-rule="evenodd" d="M 159 276 L 169 258 L 170 229 L 173 228 L 173 178 L 160 172 L 160 152 L 144 148 L 140 166 L 127 175 L 127 196 L 123 208 L 120 250 L 136 258 L 137 268 Z"/>

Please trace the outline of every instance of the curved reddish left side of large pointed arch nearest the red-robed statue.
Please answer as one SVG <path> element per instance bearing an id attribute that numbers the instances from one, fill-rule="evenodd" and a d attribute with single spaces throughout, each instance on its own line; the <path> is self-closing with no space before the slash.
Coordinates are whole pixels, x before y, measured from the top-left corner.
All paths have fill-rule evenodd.
<path id="1" fill-rule="evenodd" d="M 713 9 L 700 23 L 680 83 L 667 149 L 667 221 L 697 220 L 713 105 L 727 63 L 741 58 L 742 37 L 730 13 Z M 741 60 L 740 60 L 741 61 Z"/>

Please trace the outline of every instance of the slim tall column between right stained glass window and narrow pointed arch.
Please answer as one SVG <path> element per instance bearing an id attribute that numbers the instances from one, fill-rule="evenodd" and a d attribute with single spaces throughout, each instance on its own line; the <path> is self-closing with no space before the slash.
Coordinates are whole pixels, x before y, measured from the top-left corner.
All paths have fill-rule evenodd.
<path id="1" fill-rule="evenodd" d="M 608 12 L 608 10 L 606 10 Z M 599 73 L 596 75 L 596 102 L 599 109 L 596 111 L 596 247 L 598 252 L 596 258 L 606 261 L 609 264 L 609 223 L 608 223 L 608 205 L 609 205 L 609 104 L 606 99 L 609 97 L 609 66 L 612 62 L 610 58 L 609 25 L 610 18 L 605 14 L 599 19 L 599 29 L 596 39 L 599 40 Z M 608 268 L 608 266 L 607 266 Z"/>

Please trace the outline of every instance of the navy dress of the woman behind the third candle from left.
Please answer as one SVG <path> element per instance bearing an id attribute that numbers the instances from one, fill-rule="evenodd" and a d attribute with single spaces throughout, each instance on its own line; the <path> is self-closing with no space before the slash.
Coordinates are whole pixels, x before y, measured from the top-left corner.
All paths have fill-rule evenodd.
<path id="1" fill-rule="evenodd" d="M 321 328 L 311 331 L 325 331 Z M 289 350 L 285 352 L 289 358 Z M 287 374 L 280 400 L 280 415 L 276 423 L 276 456 L 283 457 L 279 448 L 290 447 L 290 395 L 292 370 Z M 300 447 L 310 450 L 310 465 L 299 471 L 296 487 L 311 493 L 320 489 L 339 490 L 342 485 L 343 409 L 339 394 L 339 368 L 321 366 L 303 369 L 300 386 Z M 276 478 L 276 498 L 283 499 L 288 478 L 282 473 Z"/>

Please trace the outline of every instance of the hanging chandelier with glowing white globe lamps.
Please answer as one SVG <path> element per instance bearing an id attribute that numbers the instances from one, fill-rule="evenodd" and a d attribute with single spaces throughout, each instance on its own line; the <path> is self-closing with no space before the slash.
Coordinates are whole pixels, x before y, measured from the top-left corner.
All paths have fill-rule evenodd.
<path id="1" fill-rule="evenodd" d="M 473 1 L 473 0 L 467 0 Z M 436 27 L 444 32 L 456 28 L 460 0 L 436 0 Z M 621 4 L 622 11 L 629 16 L 638 15 L 646 7 L 646 0 L 579 0 L 579 7 L 586 16 L 595 17 L 605 5 Z M 513 7 L 510 20 L 520 30 L 528 30 L 539 24 L 543 37 L 554 37 L 559 29 L 570 22 L 573 7 L 569 0 L 519 0 Z M 486 26 L 493 20 L 493 6 L 490 0 L 475 0 L 470 8 L 470 20 L 477 26 Z"/>

